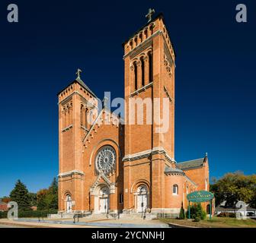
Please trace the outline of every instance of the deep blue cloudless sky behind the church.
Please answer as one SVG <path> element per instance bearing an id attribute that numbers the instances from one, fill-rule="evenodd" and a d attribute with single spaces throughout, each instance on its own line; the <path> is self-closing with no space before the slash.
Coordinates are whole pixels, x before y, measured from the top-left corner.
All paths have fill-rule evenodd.
<path id="1" fill-rule="evenodd" d="M 19 7 L 19 23 L 6 20 Z M 245 3 L 248 23 L 235 21 Z M 210 176 L 255 172 L 254 1 L 1 1 L 0 197 L 21 179 L 30 191 L 58 174 L 56 93 L 82 68 L 102 98 L 123 96 L 123 40 L 163 12 L 176 59 L 175 159 L 208 152 Z"/>

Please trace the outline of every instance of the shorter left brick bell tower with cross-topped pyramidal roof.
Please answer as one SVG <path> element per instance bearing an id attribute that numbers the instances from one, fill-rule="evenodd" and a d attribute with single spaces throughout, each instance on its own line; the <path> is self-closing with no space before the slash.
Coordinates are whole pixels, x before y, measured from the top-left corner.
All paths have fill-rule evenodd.
<path id="1" fill-rule="evenodd" d="M 59 92 L 59 211 L 82 210 L 85 172 L 82 139 L 97 117 L 98 99 L 81 80 L 81 70 Z M 69 208 L 68 208 L 69 207 Z"/>

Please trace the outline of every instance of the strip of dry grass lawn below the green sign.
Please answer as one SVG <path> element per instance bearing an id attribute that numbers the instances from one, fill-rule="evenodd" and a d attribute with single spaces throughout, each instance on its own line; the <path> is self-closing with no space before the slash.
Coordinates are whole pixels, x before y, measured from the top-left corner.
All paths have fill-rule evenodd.
<path id="1" fill-rule="evenodd" d="M 221 218 L 213 216 L 201 220 L 200 222 L 193 222 L 188 219 L 160 219 L 165 223 L 174 223 L 180 226 L 194 226 L 200 228 L 256 228 L 256 220 L 254 219 L 235 219 L 235 218 Z"/>

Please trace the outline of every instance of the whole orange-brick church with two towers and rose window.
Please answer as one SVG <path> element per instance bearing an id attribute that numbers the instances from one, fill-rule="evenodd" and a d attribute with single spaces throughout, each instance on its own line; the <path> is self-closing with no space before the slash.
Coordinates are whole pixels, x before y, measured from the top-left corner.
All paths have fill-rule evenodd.
<path id="1" fill-rule="evenodd" d="M 187 209 L 187 194 L 209 191 L 207 154 L 174 159 L 175 52 L 163 14 L 153 13 L 149 9 L 147 24 L 123 43 L 125 117 L 102 106 L 79 69 L 58 94 L 60 213 L 178 216 Z M 131 99 L 152 100 L 137 112 L 142 123 L 127 121 Z M 148 113 L 157 120 L 168 114 L 168 129 L 146 122 Z"/>

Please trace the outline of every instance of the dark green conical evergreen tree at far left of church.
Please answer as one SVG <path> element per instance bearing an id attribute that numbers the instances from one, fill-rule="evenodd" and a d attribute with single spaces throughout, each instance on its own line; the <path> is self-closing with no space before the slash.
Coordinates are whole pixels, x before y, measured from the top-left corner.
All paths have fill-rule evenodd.
<path id="1" fill-rule="evenodd" d="M 18 204 L 19 210 L 30 210 L 30 197 L 27 187 L 20 180 L 16 182 L 10 197 L 12 201 Z"/>

